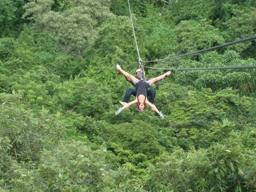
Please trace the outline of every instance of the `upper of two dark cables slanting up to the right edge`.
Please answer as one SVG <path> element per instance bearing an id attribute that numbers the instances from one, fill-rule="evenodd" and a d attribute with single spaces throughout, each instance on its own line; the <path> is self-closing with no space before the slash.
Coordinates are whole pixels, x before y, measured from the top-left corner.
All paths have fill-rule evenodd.
<path id="1" fill-rule="evenodd" d="M 217 49 L 217 48 L 220 48 L 220 47 L 223 47 L 223 46 L 228 46 L 228 45 L 233 45 L 233 44 L 236 44 L 236 43 L 241 43 L 241 42 L 245 42 L 245 41 L 250 41 L 250 40 L 255 39 L 255 38 L 256 38 L 256 36 L 251 36 L 251 37 L 247 37 L 247 38 L 244 38 L 244 39 L 239 39 L 239 40 L 237 40 L 237 41 L 225 43 L 225 44 L 222 44 L 222 45 L 213 46 L 213 47 L 210 47 L 210 48 L 207 48 L 207 49 L 204 49 L 204 50 L 199 50 L 199 51 L 195 51 L 195 52 L 191 52 L 191 53 L 186 53 L 186 54 L 174 56 L 174 57 L 171 57 L 171 58 L 158 59 L 158 60 L 153 60 L 153 61 L 143 61 L 143 60 L 142 60 L 142 61 L 143 61 L 143 62 L 155 62 L 155 61 L 163 61 L 163 60 L 167 60 L 167 59 L 173 59 L 173 58 L 183 57 L 183 56 L 187 56 L 187 55 L 190 55 L 190 54 L 201 53 L 201 52 L 204 52 L 204 51 L 209 51 L 209 50 Z"/>

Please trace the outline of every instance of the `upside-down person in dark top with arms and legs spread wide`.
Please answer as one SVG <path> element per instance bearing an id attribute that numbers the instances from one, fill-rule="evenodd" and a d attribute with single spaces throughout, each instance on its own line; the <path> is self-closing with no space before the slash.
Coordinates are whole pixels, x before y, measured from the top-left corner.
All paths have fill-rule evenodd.
<path id="1" fill-rule="evenodd" d="M 125 78 L 130 78 L 131 81 L 134 83 L 135 85 L 135 89 L 137 91 L 137 95 L 134 101 L 131 101 L 129 103 L 127 103 L 125 106 L 119 108 L 116 111 L 116 115 L 118 115 L 122 110 L 126 109 L 127 107 L 130 107 L 131 105 L 137 103 L 137 109 L 140 112 L 143 112 L 145 109 L 147 109 L 147 105 L 149 107 L 151 107 L 154 111 L 156 111 L 157 115 L 159 115 L 161 117 L 161 119 L 164 118 L 164 116 L 162 115 L 162 112 L 159 111 L 155 105 L 153 105 L 152 103 L 150 103 L 147 99 L 147 89 L 148 87 L 150 87 L 151 85 L 153 85 L 154 83 L 162 80 L 164 77 L 171 75 L 171 71 L 166 72 L 163 75 L 160 75 L 158 77 L 149 79 L 148 81 L 145 80 L 139 80 L 136 77 L 134 77 L 133 75 L 127 73 L 126 71 L 124 71 L 118 64 L 116 65 L 117 70 L 123 74 L 125 76 Z"/>

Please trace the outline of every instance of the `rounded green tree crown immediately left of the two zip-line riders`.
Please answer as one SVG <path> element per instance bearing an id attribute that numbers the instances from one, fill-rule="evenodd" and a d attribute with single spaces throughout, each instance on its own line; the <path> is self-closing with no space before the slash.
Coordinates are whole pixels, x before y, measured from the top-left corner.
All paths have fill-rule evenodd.
<path id="1" fill-rule="evenodd" d="M 90 78 L 75 78 L 60 86 L 60 102 L 66 110 L 100 118 L 110 103 L 110 92 Z"/>

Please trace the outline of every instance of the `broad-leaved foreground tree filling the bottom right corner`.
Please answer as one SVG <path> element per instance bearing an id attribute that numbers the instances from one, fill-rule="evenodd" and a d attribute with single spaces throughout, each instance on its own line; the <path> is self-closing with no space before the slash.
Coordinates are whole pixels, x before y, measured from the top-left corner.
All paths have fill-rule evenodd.
<path id="1" fill-rule="evenodd" d="M 255 156 L 234 140 L 163 154 L 148 169 L 147 191 L 255 191 Z"/>

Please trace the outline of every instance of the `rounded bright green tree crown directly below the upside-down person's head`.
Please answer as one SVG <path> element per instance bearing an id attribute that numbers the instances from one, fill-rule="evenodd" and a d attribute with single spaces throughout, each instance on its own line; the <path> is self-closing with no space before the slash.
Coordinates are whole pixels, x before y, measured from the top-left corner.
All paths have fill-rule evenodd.
<path id="1" fill-rule="evenodd" d="M 133 120 L 132 123 L 107 127 L 105 139 L 119 159 L 134 159 L 135 163 L 139 163 L 162 153 L 164 148 L 159 145 L 157 135 L 155 127 Z M 138 154 L 138 157 L 132 158 L 135 154 Z"/>

